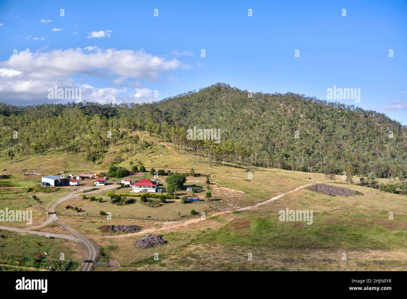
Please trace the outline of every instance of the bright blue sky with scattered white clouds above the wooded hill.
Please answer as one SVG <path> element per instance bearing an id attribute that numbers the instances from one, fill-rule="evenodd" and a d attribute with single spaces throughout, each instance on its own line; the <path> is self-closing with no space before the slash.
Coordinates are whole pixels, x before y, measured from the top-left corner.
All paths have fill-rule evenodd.
<path id="1" fill-rule="evenodd" d="M 336 85 L 407 124 L 406 15 L 407 1 L 0 0 L 0 101 L 67 102 L 48 99 L 57 85 L 148 102 L 216 82 L 327 100 Z"/>

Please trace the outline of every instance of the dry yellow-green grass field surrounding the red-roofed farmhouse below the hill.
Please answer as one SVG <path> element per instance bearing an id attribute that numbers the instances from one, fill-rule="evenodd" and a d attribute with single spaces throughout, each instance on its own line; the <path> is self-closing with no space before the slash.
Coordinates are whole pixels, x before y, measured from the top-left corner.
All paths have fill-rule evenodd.
<path id="1" fill-rule="evenodd" d="M 180 155 L 179 149 L 174 148 L 172 144 L 164 144 L 155 137 L 148 137 L 146 133 L 138 134 L 144 136 L 152 145 L 143 151 L 129 153 L 120 151 L 125 144 L 116 144 L 112 155 L 107 153 L 103 162 L 97 165 L 85 163 L 81 157 L 62 156 L 60 153 L 13 162 L 0 158 L 0 168 L 7 168 L 1 181 L 14 186 L 33 186 L 39 179 L 28 178 L 18 172 L 22 168 L 28 168 L 24 165 L 30 165 L 29 170 L 36 170 L 44 175 L 57 174 L 60 171 L 105 171 L 115 157 L 123 158 L 120 166 L 126 168 L 130 168 L 130 161 L 134 164 L 141 161 L 147 170 L 154 167 L 156 170 L 169 169 L 171 172 L 186 173 L 193 168 L 195 172 L 202 173 L 202 177 L 188 176 L 185 184 L 196 184 L 204 189 L 196 194 L 203 199 L 200 202 L 182 204 L 180 199 L 177 199 L 168 200 L 168 203 L 161 207 L 151 207 L 140 203 L 140 198 L 135 197 L 135 203 L 118 206 L 110 202 L 107 194 L 128 193 L 130 188 L 102 188 L 92 194 L 86 194 L 79 192 L 79 189 L 91 188 L 93 180 L 85 180 L 81 181 L 82 186 L 75 187 L 79 192 L 76 197 L 57 206 L 57 210 L 62 213 L 72 212 L 64 209 L 66 205 L 72 205 L 89 214 L 104 211 L 120 216 L 165 218 L 177 217 L 178 213 L 188 215 L 192 209 L 201 212 L 214 207 L 215 204 L 224 211 L 210 213 L 204 220 L 197 217 L 180 222 L 59 216 L 64 223 L 81 231 L 98 245 L 101 260 L 123 264 L 120 270 L 386 271 L 405 270 L 407 267 L 407 200 L 403 195 L 361 187 L 356 177 L 353 184 L 347 184 L 340 175 L 335 181 L 329 182 L 324 179 L 324 175 L 318 173 L 260 168 L 245 164 L 209 165 L 208 161 L 204 163 L 202 157 L 198 160 L 197 156 Z M 251 178 L 248 171 L 252 172 Z M 205 199 L 205 175 L 210 175 L 211 201 Z M 148 172 L 145 177 L 152 178 Z M 160 187 L 166 187 L 165 178 L 166 176 L 159 177 Z M 108 182 L 112 183 L 113 180 L 116 178 L 110 178 Z M 234 212 L 238 208 L 267 201 L 278 194 L 316 181 L 360 193 L 346 197 L 329 196 L 303 188 L 265 205 Z M 62 187 L 56 192 L 37 192 L 35 195 L 44 207 L 49 207 L 57 199 L 74 192 L 71 189 Z M 96 199 L 102 197 L 103 201 L 83 199 L 83 194 L 88 197 L 95 196 Z M 177 192 L 178 197 L 191 194 L 192 192 L 185 190 Z M 46 220 L 47 216 L 36 207 L 31 200 L 32 195 L 33 193 L 26 193 L 24 188 L 4 189 L 0 191 L 0 208 L 32 209 L 35 215 L 33 223 L 40 223 Z M 289 210 L 312 210 L 312 225 L 298 221 L 279 221 L 279 211 L 287 207 Z M 392 220 L 389 219 L 389 213 L 393 214 Z M 101 225 L 119 224 L 138 225 L 141 230 L 132 234 L 109 235 L 98 229 Z M 1 225 L 27 227 L 25 223 Z M 53 225 L 39 230 L 64 233 L 61 227 Z M 168 243 L 149 249 L 137 249 L 135 242 L 150 233 L 162 236 Z M 22 244 L 21 251 L 24 251 L 24 248 L 25 245 Z M 2 250 L 4 252 L 3 248 Z M 76 248 L 76 252 L 79 253 L 80 250 Z M 155 253 L 158 253 L 158 260 L 153 259 Z M 250 253 L 252 260 L 248 259 Z M 96 270 L 118 269 L 97 266 Z"/>

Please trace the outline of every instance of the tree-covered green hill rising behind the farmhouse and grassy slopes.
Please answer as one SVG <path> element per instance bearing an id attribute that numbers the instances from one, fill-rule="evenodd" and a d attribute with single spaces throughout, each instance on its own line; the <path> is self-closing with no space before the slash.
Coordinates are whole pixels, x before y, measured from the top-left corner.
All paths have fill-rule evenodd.
<path id="1" fill-rule="evenodd" d="M 299 94 L 263 94 L 217 83 L 151 104 L 95 103 L 15 107 L 0 104 L 1 147 L 21 153 L 87 151 L 103 158 L 113 142 L 145 130 L 216 162 L 246 162 L 302 171 L 404 176 L 406 127 L 385 114 Z M 221 142 L 188 140 L 186 129 L 221 129 Z M 13 140 L 13 131 L 19 132 Z M 42 138 L 39 134 L 42 133 Z"/>

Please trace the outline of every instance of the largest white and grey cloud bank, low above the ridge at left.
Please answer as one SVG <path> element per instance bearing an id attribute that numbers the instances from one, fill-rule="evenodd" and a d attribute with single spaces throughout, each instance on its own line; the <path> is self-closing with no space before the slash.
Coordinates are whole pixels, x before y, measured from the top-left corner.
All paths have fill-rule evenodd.
<path id="1" fill-rule="evenodd" d="M 48 88 L 57 85 L 81 87 L 82 99 L 89 101 L 141 103 L 154 97 L 151 89 L 143 87 L 137 79 L 156 81 L 161 74 L 182 68 L 182 63 L 175 58 L 166 59 L 143 50 L 111 50 L 112 57 L 106 55 L 106 49 L 96 46 L 49 52 L 31 52 L 28 48 L 20 51 L 17 56 L 0 61 L 0 98 L 17 105 L 55 102 L 48 100 L 47 95 Z M 110 79 L 115 84 L 136 79 L 131 82 L 137 88 L 92 87 L 75 82 L 72 78 L 75 75 Z"/>

